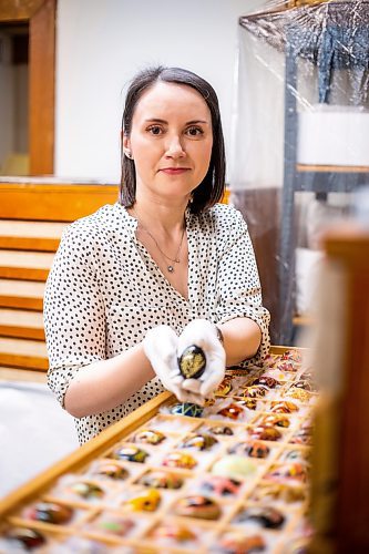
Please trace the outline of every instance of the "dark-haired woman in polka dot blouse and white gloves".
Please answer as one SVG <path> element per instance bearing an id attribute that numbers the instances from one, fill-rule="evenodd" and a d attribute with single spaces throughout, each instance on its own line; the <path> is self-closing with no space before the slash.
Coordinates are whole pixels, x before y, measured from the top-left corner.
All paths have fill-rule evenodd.
<path id="1" fill-rule="evenodd" d="M 224 178 L 213 88 L 177 68 L 141 72 L 123 113 L 120 202 L 69 226 L 47 285 L 49 386 L 81 442 L 163 386 L 203 403 L 226 365 L 266 355 L 247 226 L 216 204 Z M 206 356 L 198 380 L 177 365 L 193 343 Z"/>

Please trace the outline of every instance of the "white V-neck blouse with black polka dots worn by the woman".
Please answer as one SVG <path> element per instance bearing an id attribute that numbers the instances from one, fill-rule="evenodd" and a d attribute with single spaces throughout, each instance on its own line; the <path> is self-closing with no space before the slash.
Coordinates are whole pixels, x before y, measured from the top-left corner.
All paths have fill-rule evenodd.
<path id="1" fill-rule="evenodd" d="M 269 314 L 262 306 L 255 256 L 242 214 L 217 204 L 186 212 L 188 300 L 166 280 L 136 239 L 137 222 L 120 204 L 68 226 L 54 256 L 44 297 L 49 387 L 64 406 L 83 367 L 117 356 L 166 324 L 177 334 L 195 318 L 225 322 L 248 317 L 262 329 L 258 363 L 269 348 Z M 163 391 L 157 378 L 113 410 L 76 419 L 80 442 L 96 435 Z"/>

